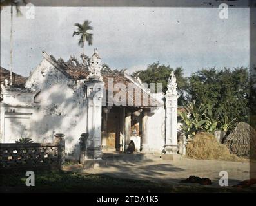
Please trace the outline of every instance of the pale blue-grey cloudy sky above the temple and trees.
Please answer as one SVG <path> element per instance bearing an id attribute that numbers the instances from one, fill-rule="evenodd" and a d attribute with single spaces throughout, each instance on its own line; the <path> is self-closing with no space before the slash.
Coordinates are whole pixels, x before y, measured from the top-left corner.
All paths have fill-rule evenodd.
<path id="1" fill-rule="evenodd" d="M 35 7 L 35 18 L 14 10 L 13 71 L 28 76 L 43 59 L 45 50 L 65 61 L 79 57 L 75 23 L 88 19 L 94 27 L 92 46 L 110 68 L 128 73 L 159 61 L 182 66 L 186 76 L 201 68 L 235 68 L 250 64 L 250 14 L 248 8 L 229 8 L 228 19 L 219 8 L 111 8 Z M 1 11 L 1 66 L 9 69 L 10 7 Z"/>

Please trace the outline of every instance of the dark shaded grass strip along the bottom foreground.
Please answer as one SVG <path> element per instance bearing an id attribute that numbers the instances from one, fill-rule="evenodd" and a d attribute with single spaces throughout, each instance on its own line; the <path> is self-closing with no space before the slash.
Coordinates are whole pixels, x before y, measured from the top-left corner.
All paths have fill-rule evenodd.
<path id="1" fill-rule="evenodd" d="M 164 185 L 67 171 L 36 173 L 35 187 L 26 187 L 24 174 L 1 174 L 0 192 L 253 192 L 251 189 Z M 255 192 L 255 191 L 254 191 Z"/>

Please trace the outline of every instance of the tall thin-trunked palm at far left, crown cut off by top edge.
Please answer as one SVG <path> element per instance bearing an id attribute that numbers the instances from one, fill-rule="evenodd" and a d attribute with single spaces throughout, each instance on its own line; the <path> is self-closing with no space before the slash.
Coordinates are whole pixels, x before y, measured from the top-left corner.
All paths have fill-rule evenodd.
<path id="1" fill-rule="evenodd" d="M 13 27 L 13 7 L 15 6 L 16 8 L 16 15 L 17 17 L 21 16 L 21 8 L 20 6 L 25 3 L 25 0 L 5 0 L 5 1 L 1 1 L 1 10 L 3 8 L 3 6 L 11 6 L 11 29 L 10 29 L 10 85 L 12 85 L 12 45 L 13 45 L 13 38 L 12 38 L 12 27 Z"/>

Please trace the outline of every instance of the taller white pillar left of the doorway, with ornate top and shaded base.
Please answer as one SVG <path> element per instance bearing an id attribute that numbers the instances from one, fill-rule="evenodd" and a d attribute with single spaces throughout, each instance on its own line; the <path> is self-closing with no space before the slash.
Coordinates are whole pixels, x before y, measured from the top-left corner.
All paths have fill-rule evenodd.
<path id="1" fill-rule="evenodd" d="M 88 147 L 86 148 L 87 159 L 100 159 L 103 156 L 101 146 L 101 106 L 103 98 L 103 77 L 101 76 L 101 59 L 97 49 L 90 59 L 90 74 L 85 82 L 86 97 L 88 100 L 87 110 L 87 133 Z"/>

